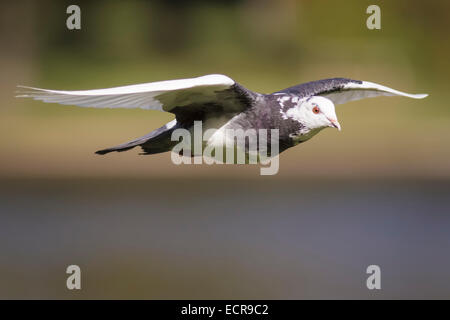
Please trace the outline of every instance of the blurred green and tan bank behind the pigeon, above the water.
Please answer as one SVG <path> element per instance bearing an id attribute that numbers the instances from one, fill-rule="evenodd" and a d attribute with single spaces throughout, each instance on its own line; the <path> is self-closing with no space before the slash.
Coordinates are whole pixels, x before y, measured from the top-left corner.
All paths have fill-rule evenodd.
<path id="1" fill-rule="evenodd" d="M 306 174 L 296 169 L 301 159 L 308 173 L 324 174 L 320 167 L 336 148 L 331 169 L 343 175 L 450 176 L 450 2 L 377 1 L 379 31 L 366 28 L 368 0 L 77 1 L 80 31 L 65 27 L 70 4 L 0 5 L 0 174 L 129 175 L 130 165 L 136 175 L 198 174 L 200 169 L 174 170 L 167 154 L 153 160 L 135 152 L 120 159 L 92 156 L 151 131 L 170 114 L 61 107 L 12 94 L 17 84 L 88 89 L 224 73 L 259 92 L 338 76 L 429 93 L 423 101 L 379 98 L 339 106 L 343 133 L 327 130 L 289 150 L 282 172 L 285 166 Z M 234 172 L 215 169 L 202 172 Z M 256 172 L 236 172 L 243 170 Z"/>

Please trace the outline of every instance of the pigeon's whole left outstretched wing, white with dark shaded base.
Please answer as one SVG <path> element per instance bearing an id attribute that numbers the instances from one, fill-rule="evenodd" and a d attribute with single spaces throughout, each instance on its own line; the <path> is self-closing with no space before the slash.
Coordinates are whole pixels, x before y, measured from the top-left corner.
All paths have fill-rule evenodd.
<path id="1" fill-rule="evenodd" d="M 253 92 L 231 78 L 211 74 L 198 78 L 150 82 L 108 89 L 62 91 L 31 87 L 17 97 L 94 108 L 140 108 L 174 113 L 242 111 Z"/>

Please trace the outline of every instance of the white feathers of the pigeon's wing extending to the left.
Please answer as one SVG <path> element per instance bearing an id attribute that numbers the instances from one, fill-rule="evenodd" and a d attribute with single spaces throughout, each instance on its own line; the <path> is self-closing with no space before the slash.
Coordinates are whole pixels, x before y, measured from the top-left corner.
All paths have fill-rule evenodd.
<path id="1" fill-rule="evenodd" d="M 17 97 L 33 98 L 49 103 L 94 108 L 140 108 L 170 111 L 181 95 L 205 99 L 215 91 L 231 87 L 235 82 L 227 76 L 210 74 L 197 78 L 168 80 L 108 89 L 64 91 L 24 87 L 28 91 Z M 164 95 L 164 101 L 158 98 Z M 203 97 L 202 97 L 203 96 Z"/>

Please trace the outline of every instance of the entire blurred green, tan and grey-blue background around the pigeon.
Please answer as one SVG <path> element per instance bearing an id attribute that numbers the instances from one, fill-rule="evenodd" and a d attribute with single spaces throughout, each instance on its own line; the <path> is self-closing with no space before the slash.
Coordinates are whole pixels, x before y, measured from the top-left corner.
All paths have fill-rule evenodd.
<path id="1" fill-rule="evenodd" d="M 66 8 L 81 7 L 79 31 Z M 0 298 L 450 298 L 450 2 L 0 4 Z M 270 93 L 348 77 L 425 100 L 337 107 L 257 166 L 95 150 L 172 119 L 14 98 L 223 73 Z M 65 268 L 82 269 L 82 290 Z M 382 290 L 365 286 L 380 265 Z"/>

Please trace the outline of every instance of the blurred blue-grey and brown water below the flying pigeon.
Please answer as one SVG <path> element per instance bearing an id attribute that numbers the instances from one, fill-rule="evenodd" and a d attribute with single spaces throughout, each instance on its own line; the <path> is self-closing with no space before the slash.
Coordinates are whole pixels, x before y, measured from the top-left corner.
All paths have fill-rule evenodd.
<path id="1" fill-rule="evenodd" d="M 3 180 L 0 298 L 450 298 L 449 195 L 436 181 Z"/>

